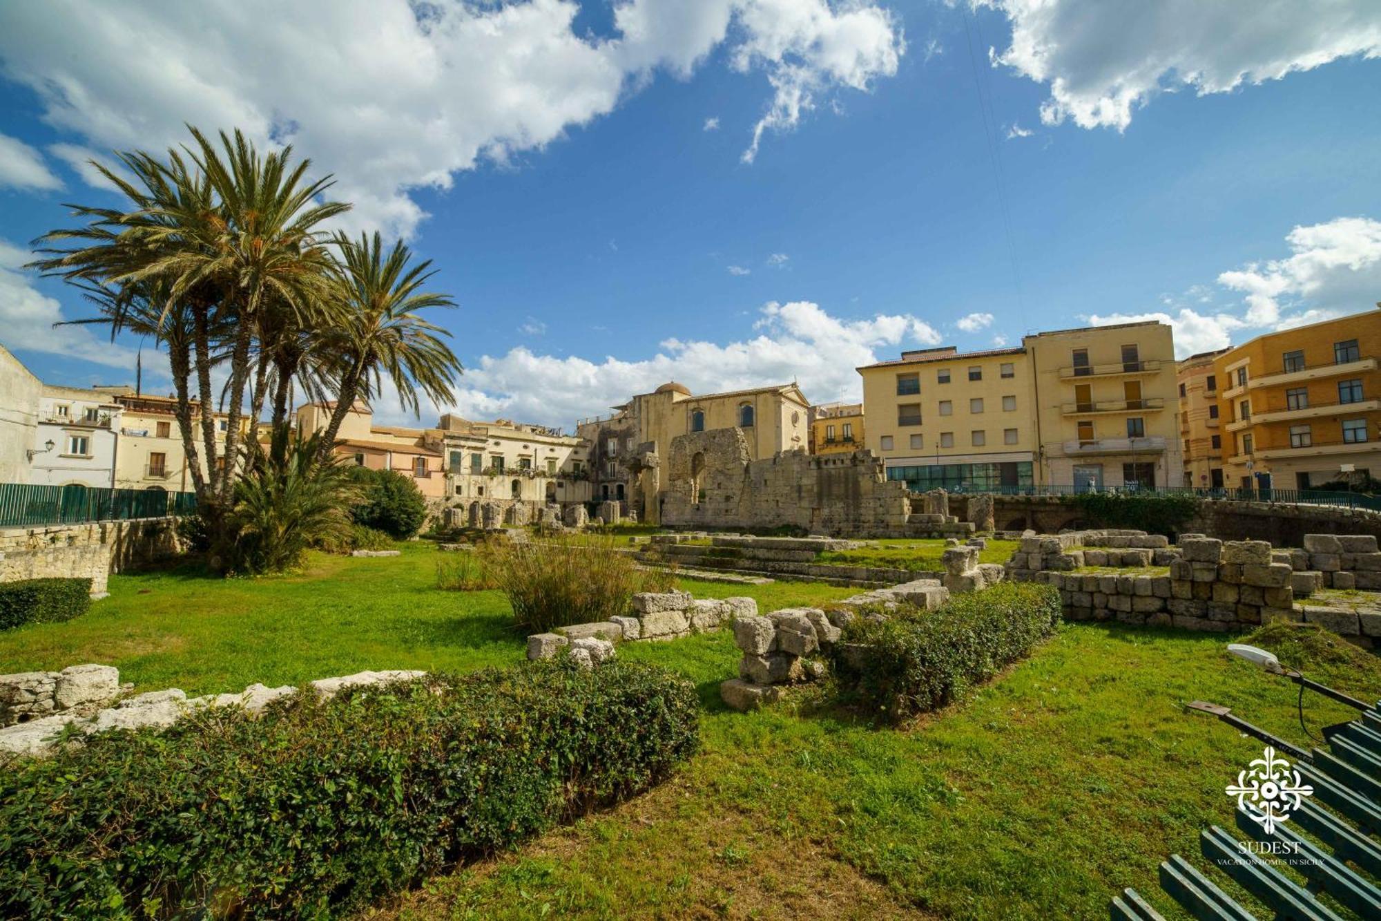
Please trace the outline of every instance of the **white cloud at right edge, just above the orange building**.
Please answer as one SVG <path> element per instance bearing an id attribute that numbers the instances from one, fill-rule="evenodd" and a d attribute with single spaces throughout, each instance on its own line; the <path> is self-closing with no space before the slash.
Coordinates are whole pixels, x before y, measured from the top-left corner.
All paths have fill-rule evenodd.
<path id="1" fill-rule="evenodd" d="M 1225 293 L 1240 306 L 1211 308 L 1215 297 L 1203 285 L 1182 299 L 1164 299 L 1170 311 L 1092 315 L 1094 325 L 1159 319 L 1175 331 L 1175 355 L 1224 348 L 1233 342 L 1333 317 L 1363 313 L 1381 299 L 1381 221 L 1338 217 L 1295 227 L 1286 236 L 1290 256 L 1218 275 Z M 1242 336 L 1235 336 L 1242 333 Z"/>

